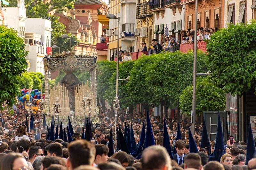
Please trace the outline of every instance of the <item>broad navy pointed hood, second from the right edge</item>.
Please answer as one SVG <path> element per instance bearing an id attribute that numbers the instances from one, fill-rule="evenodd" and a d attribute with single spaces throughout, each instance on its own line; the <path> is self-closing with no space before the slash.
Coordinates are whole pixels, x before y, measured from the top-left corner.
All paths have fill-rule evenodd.
<path id="1" fill-rule="evenodd" d="M 224 145 L 224 138 L 222 132 L 222 126 L 220 121 L 220 113 L 218 113 L 218 126 L 216 132 L 216 141 L 214 146 L 214 151 L 209 156 L 209 161 L 216 160 L 220 162 L 220 158 L 222 155 L 226 153 L 225 145 Z"/>

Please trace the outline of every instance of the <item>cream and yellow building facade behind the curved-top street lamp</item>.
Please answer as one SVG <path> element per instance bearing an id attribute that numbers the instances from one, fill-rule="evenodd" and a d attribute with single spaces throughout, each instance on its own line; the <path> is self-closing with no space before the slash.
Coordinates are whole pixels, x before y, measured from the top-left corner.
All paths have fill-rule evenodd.
<path id="1" fill-rule="evenodd" d="M 120 17 L 120 25 L 117 19 L 109 20 L 109 29 L 106 32 L 108 41 L 108 60 L 114 60 L 117 55 L 117 28 L 119 27 L 119 51 L 134 52 L 134 29 L 137 26 L 136 0 L 116 0 L 108 4 L 110 14 Z"/>

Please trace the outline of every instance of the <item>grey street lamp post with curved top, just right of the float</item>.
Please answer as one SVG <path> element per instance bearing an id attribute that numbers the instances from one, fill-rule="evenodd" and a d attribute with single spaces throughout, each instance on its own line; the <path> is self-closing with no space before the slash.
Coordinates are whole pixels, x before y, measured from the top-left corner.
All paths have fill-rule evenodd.
<path id="1" fill-rule="evenodd" d="M 119 27 L 120 27 L 120 18 L 116 17 L 114 14 L 108 14 L 106 16 L 108 19 L 117 19 L 118 25 L 117 25 L 117 57 L 119 54 Z M 119 58 L 116 60 L 116 97 L 114 99 L 113 108 L 115 109 L 115 149 L 116 149 L 116 125 L 117 125 L 117 112 L 120 108 L 120 100 L 118 99 L 118 64 L 119 64 Z"/>

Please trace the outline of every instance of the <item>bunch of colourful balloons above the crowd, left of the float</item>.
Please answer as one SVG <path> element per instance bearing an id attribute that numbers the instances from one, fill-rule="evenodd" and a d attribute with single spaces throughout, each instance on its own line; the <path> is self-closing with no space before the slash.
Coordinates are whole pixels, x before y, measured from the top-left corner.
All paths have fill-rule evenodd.
<path id="1" fill-rule="evenodd" d="M 21 95 L 18 97 L 20 102 L 30 101 L 38 104 L 40 99 L 44 99 L 44 94 L 38 91 L 38 89 L 30 89 L 30 94 L 28 93 L 28 89 L 21 89 L 20 91 Z"/>

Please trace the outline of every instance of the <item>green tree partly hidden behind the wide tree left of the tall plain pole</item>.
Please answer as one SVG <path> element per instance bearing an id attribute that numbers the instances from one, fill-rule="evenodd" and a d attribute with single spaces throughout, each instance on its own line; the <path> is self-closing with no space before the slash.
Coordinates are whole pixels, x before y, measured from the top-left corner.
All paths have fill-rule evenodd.
<path id="1" fill-rule="evenodd" d="M 131 70 L 130 81 L 126 84 L 131 100 L 136 104 L 141 103 L 146 111 L 149 111 L 155 103 L 153 92 L 148 90 L 146 83 L 146 68 L 155 61 L 156 57 L 157 55 L 154 54 L 136 60 Z"/>

